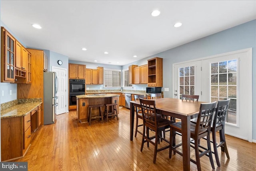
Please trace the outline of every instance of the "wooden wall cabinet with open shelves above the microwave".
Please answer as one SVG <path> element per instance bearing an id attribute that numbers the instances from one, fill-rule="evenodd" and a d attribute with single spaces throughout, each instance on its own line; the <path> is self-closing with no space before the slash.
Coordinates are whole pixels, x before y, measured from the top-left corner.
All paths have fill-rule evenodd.
<path id="1" fill-rule="evenodd" d="M 163 59 L 152 58 L 148 60 L 148 87 L 163 86 Z"/>

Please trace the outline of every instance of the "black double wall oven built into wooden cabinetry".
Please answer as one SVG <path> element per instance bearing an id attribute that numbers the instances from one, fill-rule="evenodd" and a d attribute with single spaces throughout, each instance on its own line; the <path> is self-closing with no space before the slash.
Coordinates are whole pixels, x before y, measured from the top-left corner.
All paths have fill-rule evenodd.
<path id="1" fill-rule="evenodd" d="M 84 79 L 69 80 L 69 105 L 76 105 L 76 95 L 85 94 Z"/>

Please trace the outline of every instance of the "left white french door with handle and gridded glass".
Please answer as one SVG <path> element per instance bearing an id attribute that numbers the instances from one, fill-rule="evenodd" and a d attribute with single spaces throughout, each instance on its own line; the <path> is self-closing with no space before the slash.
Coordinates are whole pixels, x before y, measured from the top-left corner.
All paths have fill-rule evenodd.
<path id="1" fill-rule="evenodd" d="M 201 60 L 174 64 L 173 97 L 180 99 L 182 94 L 199 95 L 201 100 Z"/>

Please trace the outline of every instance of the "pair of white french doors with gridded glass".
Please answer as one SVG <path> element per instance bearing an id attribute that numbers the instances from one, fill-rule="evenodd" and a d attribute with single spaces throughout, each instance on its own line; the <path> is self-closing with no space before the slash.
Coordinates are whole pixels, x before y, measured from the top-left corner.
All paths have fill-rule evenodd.
<path id="1" fill-rule="evenodd" d="M 194 93 L 201 97 L 199 101 L 230 99 L 225 133 L 252 142 L 251 48 L 173 66 L 174 98 L 179 98 L 182 93 Z M 193 68 L 194 74 L 191 72 Z"/>

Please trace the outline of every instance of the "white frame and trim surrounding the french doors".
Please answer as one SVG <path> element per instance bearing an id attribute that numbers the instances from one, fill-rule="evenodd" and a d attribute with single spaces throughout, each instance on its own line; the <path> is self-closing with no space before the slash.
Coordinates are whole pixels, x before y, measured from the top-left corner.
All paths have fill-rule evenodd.
<path id="1" fill-rule="evenodd" d="M 178 63 L 175 63 L 175 64 L 172 64 L 172 84 L 173 84 L 173 92 L 174 92 L 174 87 L 175 87 L 175 82 L 174 82 L 174 79 L 175 79 L 175 73 L 174 73 L 174 65 L 177 65 L 177 64 L 183 64 L 183 63 L 188 63 L 188 62 L 195 62 L 195 61 L 198 61 L 198 60 L 209 60 L 211 58 L 219 58 L 221 56 L 228 56 L 228 55 L 233 55 L 233 54 L 240 54 L 240 53 L 247 53 L 247 58 L 248 58 L 248 64 L 247 64 L 247 68 L 248 68 L 248 72 L 247 72 L 247 82 L 246 82 L 246 89 L 248 90 L 252 90 L 252 48 L 247 48 L 247 49 L 242 49 L 242 50 L 237 50 L 237 51 L 232 51 L 232 52 L 226 52 L 226 53 L 223 53 L 223 54 L 217 54 L 217 55 L 213 55 L 213 56 L 208 56 L 208 57 L 203 57 L 203 58 L 197 58 L 197 59 L 194 59 L 194 60 L 188 60 L 188 61 L 184 61 L 184 62 L 178 62 Z M 203 62 L 202 62 L 203 63 Z M 202 66 L 203 67 L 203 66 Z M 240 74 L 240 73 L 239 73 Z M 202 73 L 203 75 L 203 73 Z M 208 87 L 207 87 L 208 88 Z M 239 87 L 240 89 L 241 87 Z M 206 99 L 204 99 L 204 91 L 205 91 L 205 88 L 202 86 L 202 101 L 205 101 Z M 174 98 L 174 93 L 172 95 L 172 97 Z M 249 113 L 248 114 L 248 140 L 249 142 L 252 142 L 252 93 L 248 93 L 247 96 L 247 112 Z M 231 134 L 230 134 L 231 135 Z M 234 135 L 232 135 L 234 136 Z M 235 136 L 235 137 L 238 137 L 238 136 Z M 238 138 L 242 138 L 244 139 L 243 137 L 238 137 Z"/>

